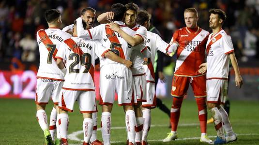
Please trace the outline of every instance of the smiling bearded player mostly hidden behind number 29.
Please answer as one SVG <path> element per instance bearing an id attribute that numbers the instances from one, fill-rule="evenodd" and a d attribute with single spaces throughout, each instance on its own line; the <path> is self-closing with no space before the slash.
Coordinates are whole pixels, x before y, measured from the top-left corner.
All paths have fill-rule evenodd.
<path id="1" fill-rule="evenodd" d="M 96 11 L 91 7 L 84 8 L 81 11 L 81 17 L 83 18 L 84 22 L 86 23 L 86 29 L 92 28 L 92 25 L 95 20 L 95 16 L 96 16 Z M 68 33 L 73 33 L 73 25 L 74 24 L 64 27 L 62 29 L 62 31 L 66 31 Z M 99 61 L 98 58 L 95 59 L 95 65 L 97 65 L 97 61 Z M 92 120 L 93 120 L 93 131 L 92 131 L 92 135 L 91 135 L 91 139 L 90 139 L 91 144 L 92 145 L 101 145 L 101 142 L 99 140 L 97 140 L 97 113 L 96 112 L 92 113 Z"/>

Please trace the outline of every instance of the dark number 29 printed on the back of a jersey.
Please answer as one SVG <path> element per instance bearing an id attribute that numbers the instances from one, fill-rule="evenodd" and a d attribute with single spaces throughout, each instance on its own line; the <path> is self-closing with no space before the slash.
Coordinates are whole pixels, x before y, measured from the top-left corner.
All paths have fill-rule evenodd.
<path id="1" fill-rule="evenodd" d="M 80 57 L 77 53 L 72 53 L 68 57 L 69 60 L 74 60 L 74 58 L 75 61 L 69 66 L 69 73 L 79 73 L 79 69 L 74 69 L 79 61 L 81 62 L 81 65 L 86 68 L 83 73 L 88 73 L 91 68 L 91 55 L 89 53 L 83 53 Z"/>

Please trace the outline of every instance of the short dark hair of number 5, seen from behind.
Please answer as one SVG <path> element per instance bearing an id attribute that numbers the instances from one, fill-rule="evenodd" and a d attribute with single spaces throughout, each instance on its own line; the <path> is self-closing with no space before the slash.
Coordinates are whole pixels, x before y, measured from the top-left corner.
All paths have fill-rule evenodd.
<path id="1" fill-rule="evenodd" d="M 125 7 L 121 3 L 115 3 L 111 5 L 111 12 L 114 13 L 114 21 L 121 21 L 123 20 L 124 14 L 125 14 Z"/>

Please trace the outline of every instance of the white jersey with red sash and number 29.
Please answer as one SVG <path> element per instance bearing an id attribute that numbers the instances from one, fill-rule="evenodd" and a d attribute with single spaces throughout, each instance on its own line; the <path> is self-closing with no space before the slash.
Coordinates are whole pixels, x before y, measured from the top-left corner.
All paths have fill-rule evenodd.
<path id="1" fill-rule="evenodd" d="M 63 89 L 94 90 L 94 58 L 104 57 L 109 51 L 97 41 L 72 37 L 61 43 L 56 58 L 66 61 L 66 75 Z"/>

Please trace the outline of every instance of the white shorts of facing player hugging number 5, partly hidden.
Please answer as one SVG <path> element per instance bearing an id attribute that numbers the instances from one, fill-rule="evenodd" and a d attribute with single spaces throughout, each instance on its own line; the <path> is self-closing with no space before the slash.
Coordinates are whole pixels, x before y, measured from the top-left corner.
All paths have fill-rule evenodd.
<path id="1" fill-rule="evenodd" d="M 134 81 L 134 95 L 137 97 L 137 101 L 140 102 L 146 102 L 147 97 L 146 97 L 146 75 L 140 75 L 140 76 L 133 76 L 133 81 Z"/>

